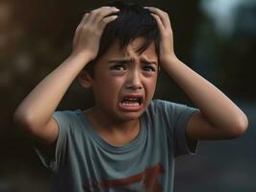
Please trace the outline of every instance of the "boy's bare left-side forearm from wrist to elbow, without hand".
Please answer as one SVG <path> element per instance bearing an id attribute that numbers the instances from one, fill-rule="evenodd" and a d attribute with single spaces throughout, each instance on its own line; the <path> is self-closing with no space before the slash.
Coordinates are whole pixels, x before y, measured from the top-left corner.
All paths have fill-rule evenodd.
<path id="1" fill-rule="evenodd" d="M 89 60 L 85 55 L 70 56 L 45 77 L 22 101 L 14 118 L 45 125 L 61 102 L 68 86 Z"/>

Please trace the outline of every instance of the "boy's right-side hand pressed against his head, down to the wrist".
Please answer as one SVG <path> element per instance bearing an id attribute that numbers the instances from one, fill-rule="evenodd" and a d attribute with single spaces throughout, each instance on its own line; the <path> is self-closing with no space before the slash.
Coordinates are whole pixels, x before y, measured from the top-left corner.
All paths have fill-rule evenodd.
<path id="1" fill-rule="evenodd" d="M 172 29 L 169 21 L 168 14 L 160 9 L 154 7 L 144 7 L 151 12 L 151 15 L 155 18 L 158 28 L 161 34 L 160 42 L 160 63 L 165 69 L 165 66 L 176 60 L 176 56 L 173 48 L 173 36 Z"/>

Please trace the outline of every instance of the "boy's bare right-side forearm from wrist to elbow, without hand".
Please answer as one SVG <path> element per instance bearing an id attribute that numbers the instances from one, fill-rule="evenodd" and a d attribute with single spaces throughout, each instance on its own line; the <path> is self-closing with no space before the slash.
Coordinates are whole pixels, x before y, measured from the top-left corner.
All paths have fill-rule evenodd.
<path id="1" fill-rule="evenodd" d="M 182 61 L 175 58 L 165 66 L 167 74 L 185 91 L 209 123 L 217 128 L 234 128 L 247 121 L 240 108 Z"/>

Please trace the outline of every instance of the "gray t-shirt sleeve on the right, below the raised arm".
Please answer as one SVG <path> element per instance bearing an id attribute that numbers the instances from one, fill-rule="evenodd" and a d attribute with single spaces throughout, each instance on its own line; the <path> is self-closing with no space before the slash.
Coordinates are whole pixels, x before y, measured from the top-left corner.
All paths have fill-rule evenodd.
<path id="1" fill-rule="evenodd" d="M 195 155 L 199 140 L 189 143 L 186 127 L 192 113 L 199 111 L 199 109 L 168 101 L 161 101 L 161 103 L 165 113 L 163 115 L 166 116 L 168 124 L 168 132 L 173 141 L 174 156 Z"/>

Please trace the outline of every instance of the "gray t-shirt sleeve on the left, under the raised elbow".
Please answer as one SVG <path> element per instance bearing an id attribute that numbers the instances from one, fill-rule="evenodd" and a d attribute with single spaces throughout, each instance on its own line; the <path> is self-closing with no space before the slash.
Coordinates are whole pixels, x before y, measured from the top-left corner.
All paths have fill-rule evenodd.
<path id="1" fill-rule="evenodd" d="M 54 173 L 64 166 L 65 156 L 67 153 L 67 141 L 68 132 L 71 127 L 70 116 L 68 115 L 70 111 L 55 111 L 53 113 L 53 118 L 58 124 L 58 137 L 54 145 L 48 146 L 51 149 L 47 149 L 46 146 L 34 145 L 36 153 L 42 164 L 51 169 Z M 45 150 L 46 149 L 46 150 Z M 47 153 L 47 151 L 53 151 L 52 154 Z"/>

